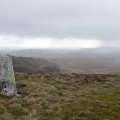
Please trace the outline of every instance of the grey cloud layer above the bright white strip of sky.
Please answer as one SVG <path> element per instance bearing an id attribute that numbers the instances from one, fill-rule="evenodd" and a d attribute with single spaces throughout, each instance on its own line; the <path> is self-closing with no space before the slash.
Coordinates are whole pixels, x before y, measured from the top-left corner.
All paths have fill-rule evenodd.
<path id="1" fill-rule="evenodd" d="M 119 0 L 0 0 L 0 33 L 119 40 Z"/>

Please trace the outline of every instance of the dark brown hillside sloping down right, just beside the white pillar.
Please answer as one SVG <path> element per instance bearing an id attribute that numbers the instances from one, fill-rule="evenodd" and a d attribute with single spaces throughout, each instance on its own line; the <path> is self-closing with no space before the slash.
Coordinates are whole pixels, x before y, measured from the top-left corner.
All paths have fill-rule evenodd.
<path id="1" fill-rule="evenodd" d="M 27 57 L 12 57 L 15 72 L 25 73 L 60 73 L 56 64 L 47 60 Z"/>

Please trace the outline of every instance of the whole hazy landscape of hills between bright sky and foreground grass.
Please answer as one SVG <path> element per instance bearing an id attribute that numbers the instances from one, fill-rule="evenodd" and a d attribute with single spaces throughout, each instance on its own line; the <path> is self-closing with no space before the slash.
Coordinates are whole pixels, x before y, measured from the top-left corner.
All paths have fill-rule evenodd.
<path id="1" fill-rule="evenodd" d="M 16 50 L 13 57 L 17 72 L 119 74 L 118 49 Z"/>

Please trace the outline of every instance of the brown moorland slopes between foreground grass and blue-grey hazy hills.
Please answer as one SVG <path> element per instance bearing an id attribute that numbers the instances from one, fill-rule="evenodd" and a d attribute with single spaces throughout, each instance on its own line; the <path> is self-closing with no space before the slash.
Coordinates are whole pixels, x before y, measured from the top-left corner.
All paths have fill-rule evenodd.
<path id="1" fill-rule="evenodd" d="M 12 57 L 15 72 L 120 74 L 120 59 L 39 59 Z"/>

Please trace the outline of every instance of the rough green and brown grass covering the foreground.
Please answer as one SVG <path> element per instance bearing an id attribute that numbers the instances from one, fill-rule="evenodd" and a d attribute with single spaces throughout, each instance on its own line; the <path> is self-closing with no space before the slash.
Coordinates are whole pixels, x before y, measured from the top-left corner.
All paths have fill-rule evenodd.
<path id="1" fill-rule="evenodd" d="M 0 96 L 0 120 L 120 120 L 120 76 L 16 74 L 20 97 Z"/>

